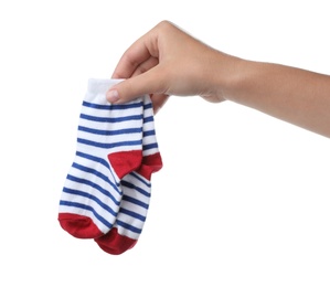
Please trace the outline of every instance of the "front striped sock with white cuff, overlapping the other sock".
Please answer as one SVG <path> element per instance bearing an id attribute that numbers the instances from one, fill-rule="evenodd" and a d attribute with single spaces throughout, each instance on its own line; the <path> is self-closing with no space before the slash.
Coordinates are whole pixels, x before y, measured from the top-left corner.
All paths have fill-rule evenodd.
<path id="1" fill-rule="evenodd" d="M 106 100 L 115 79 L 89 79 L 77 131 L 76 153 L 61 194 L 58 221 L 71 235 L 96 238 L 114 225 L 120 179 L 142 160 L 143 98 L 124 105 Z"/>

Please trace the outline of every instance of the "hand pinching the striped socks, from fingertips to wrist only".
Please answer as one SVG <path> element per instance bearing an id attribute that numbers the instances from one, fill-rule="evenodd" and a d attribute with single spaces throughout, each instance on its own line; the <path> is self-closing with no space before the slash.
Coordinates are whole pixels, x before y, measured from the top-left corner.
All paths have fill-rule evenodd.
<path id="1" fill-rule="evenodd" d="M 119 104 L 150 94 L 155 113 L 170 95 L 200 95 L 220 103 L 224 100 L 219 83 L 224 65 L 217 60 L 224 64 L 233 57 L 162 21 L 124 53 L 113 78 L 126 81 L 111 87 L 107 99 Z"/>

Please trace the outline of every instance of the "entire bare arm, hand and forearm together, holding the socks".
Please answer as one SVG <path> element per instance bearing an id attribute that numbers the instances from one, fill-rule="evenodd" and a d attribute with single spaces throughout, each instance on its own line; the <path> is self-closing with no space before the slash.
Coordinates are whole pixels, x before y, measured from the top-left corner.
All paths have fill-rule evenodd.
<path id="1" fill-rule="evenodd" d="M 330 137 L 330 76 L 225 54 L 162 21 L 123 54 L 107 92 L 113 104 L 150 94 L 157 113 L 171 95 L 235 102 Z"/>

